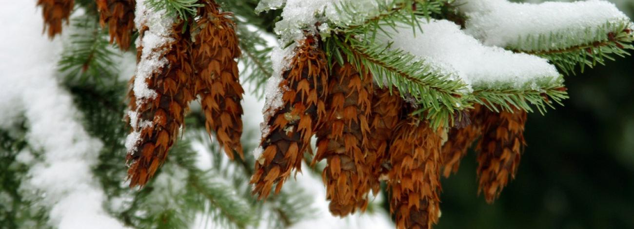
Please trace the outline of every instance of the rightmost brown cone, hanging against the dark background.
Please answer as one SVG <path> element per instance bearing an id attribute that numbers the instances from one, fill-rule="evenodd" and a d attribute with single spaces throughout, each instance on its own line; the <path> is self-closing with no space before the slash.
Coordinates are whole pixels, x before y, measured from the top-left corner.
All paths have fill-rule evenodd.
<path id="1" fill-rule="evenodd" d="M 508 183 L 508 175 L 515 178 L 524 145 L 526 111 L 495 113 L 485 110 L 484 135 L 478 142 L 478 193 L 484 192 L 489 204 L 495 201 Z"/>

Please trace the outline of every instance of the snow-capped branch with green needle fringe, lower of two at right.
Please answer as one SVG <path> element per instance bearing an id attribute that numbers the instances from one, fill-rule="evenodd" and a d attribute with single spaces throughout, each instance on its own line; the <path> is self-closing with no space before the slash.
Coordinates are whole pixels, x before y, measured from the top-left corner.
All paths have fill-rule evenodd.
<path id="1" fill-rule="evenodd" d="M 484 46 L 460 30 L 458 25 L 446 20 L 421 20 L 418 23 L 422 32 L 408 26 L 396 26 L 382 28 L 376 35 L 379 43 L 387 44 L 391 51 L 401 52 L 390 54 L 399 57 L 396 63 L 406 63 L 399 69 L 418 66 L 441 76 L 436 78 L 462 82 L 465 86 L 454 90 L 462 94 L 463 100 L 484 104 L 495 111 L 513 107 L 533 111 L 532 105 L 543 113 L 547 106 L 552 106 L 550 100 L 559 103 L 567 97 L 560 74 L 547 59 Z M 402 57 L 408 54 L 416 56 L 418 63 L 403 61 Z M 387 75 L 385 72 L 373 73 L 378 77 Z M 403 90 L 403 86 L 396 87 L 411 92 Z"/>

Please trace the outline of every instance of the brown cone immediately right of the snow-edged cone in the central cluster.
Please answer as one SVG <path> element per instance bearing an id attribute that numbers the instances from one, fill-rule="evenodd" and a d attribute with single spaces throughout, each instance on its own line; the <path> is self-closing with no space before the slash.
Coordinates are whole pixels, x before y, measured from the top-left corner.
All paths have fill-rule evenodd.
<path id="1" fill-rule="evenodd" d="M 361 76 L 350 63 L 333 66 L 328 82 L 327 114 L 317 132 L 317 154 L 313 161 L 328 161 L 321 176 L 333 215 L 346 216 L 357 207 L 364 211 L 368 205 L 373 176 L 365 151 L 370 135 L 372 87 L 372 75 Z"/>

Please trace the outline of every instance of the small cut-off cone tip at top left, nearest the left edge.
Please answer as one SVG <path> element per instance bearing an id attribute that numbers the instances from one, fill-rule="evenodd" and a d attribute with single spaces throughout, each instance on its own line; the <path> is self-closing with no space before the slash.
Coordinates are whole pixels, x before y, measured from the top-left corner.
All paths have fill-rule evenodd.
<path id="1" fill-rule="evenodd" d="M 48 27 L 48 37 L 53 39 L 61 34 L 61 22 L 68 23 L 68 17 L 75 6 L 74 0 L 37 0 L 37 5 L 42 6 L 44 16 L 44 30 Z"/>

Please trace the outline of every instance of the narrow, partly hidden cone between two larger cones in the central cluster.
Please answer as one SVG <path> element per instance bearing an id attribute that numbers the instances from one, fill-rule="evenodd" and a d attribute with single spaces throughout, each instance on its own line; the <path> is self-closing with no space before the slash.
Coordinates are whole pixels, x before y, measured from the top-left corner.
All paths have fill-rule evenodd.
<path id="1" fill-rule="evenodd" d="M 366 160 L 372 170 L 371 188 L 377 195 L 380 190 L 380 180 L 386 176 L 390 166 L 389 149 L 394 134 L 394 129 L 401 121 L 403 110 L 403 98 L 398 90 L 375 89 L 372 97 L 372 114 L 370 114 L 370 134 Z"/>

